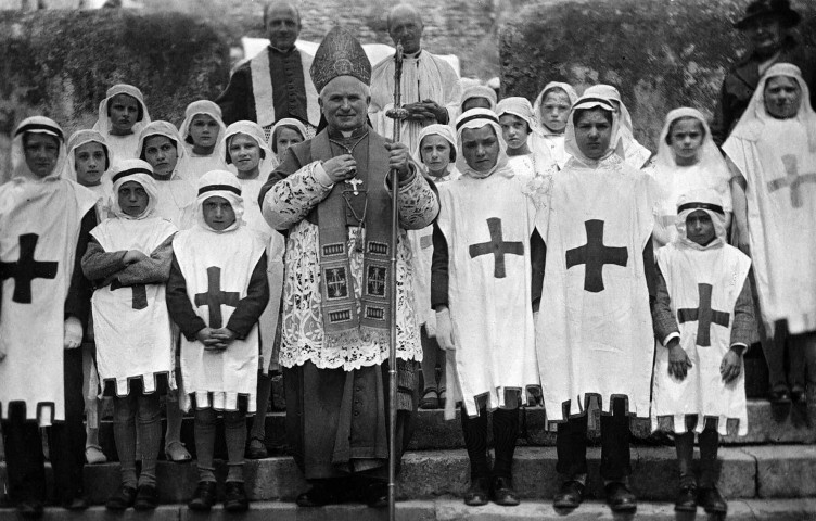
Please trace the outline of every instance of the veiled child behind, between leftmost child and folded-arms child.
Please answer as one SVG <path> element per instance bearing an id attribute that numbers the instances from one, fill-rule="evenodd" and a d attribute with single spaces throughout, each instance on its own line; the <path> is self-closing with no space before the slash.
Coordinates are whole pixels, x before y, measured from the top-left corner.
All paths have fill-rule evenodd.
<path id="1" fill-rule="evenodd" d="M 95 130 L 78 130 L 68 139 L 68 157 L 65 176 L 75 179 L 97 195 L 97 223 L 109 216 L 113 185 L 109 174 L 113 166 L 113 153 L 105 138 Z M 93 318 L 89 316 L 82 339 L 82 395 L 85 397 L 86 441 L 85 460 L 90 463 L 107 461 L 99 444 L 99 417 L 102 402 L 99 401 L 99 373 L 97 372 Z"/>

